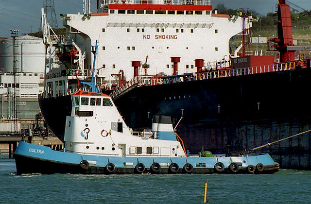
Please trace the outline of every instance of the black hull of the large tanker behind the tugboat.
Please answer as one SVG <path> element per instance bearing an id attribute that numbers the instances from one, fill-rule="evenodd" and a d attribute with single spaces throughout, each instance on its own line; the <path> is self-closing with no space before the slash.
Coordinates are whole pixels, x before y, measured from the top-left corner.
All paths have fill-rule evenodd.
<path id="1" fill-rule="evenodd" d="M 114 102 L 134 130 L 150 129 L 154 115 L 171 116 L 175 123 L 183 117 L 177 133 L 191 153 L 200 152 L 202 145 L 212 153 L 238 152 L 311 129 L 310 79 L 311 69 L 303 68 L 141 86 Z M 71 100 L 55 102 L 60 98 L 39 102 L 52 131 L 63 140 Z M 311 169 L 310 134 L 257 152 L 269 153 L 281 168 Z"/>

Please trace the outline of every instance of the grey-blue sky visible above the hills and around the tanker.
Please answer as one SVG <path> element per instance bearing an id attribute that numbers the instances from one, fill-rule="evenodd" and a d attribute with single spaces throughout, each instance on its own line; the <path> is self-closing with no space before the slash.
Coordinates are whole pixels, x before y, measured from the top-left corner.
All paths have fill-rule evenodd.
<path id="1" fill-rule="evenodd" d="M 10 37 L 11 29 L 20 30 L 20 35 L 39 31 L 43 2 L 44 0 L 0 0 L 0 36 Z M 263 16 L 274 12 L 277 2 L 278 0 L 211 0 L 214 8 L 224 3 L 227 9 L 249 8 Z M 311 10 L 311 0 L 286 2 Z M 54 9 L 58 27 L 62 28 L 59 14 L 83 13 L 83 0 L 54 0 Z M 96 12 L 96 0 L 91 0 L 91 12 Z"/>

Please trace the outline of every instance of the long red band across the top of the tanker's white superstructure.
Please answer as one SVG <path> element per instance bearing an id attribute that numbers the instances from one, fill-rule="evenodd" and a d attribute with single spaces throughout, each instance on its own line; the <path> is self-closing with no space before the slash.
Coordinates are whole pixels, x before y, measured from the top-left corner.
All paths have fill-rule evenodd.
<path id="1" fill-rule="evenodd" d="M 155 11 L 211 11 L 211 5 L 109 4 L 109 9 Z"/>

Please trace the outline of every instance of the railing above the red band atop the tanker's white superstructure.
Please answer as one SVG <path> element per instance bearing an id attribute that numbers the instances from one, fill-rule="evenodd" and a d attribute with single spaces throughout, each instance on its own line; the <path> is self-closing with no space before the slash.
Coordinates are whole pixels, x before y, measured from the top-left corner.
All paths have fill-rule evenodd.
<path id="1" fill-rule="evenodd" d="M 161 4 L 161 5 L 210 5 L 210 0 L 104 0 L 109 4 Z"/>

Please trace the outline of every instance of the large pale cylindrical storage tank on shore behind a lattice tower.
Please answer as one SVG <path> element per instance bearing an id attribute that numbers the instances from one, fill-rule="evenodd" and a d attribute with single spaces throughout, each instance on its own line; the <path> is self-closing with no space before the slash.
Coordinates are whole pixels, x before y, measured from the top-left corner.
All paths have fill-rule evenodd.
<path id="1" fill-rule="evenodd" d="M 19 72 L 43 73 L 45 66 L 45 45 L 42 38 L 22 35 L 16 38 L 16 67 Z M 0 41 L 0 68 L 13 72 L 13 38 Z"/>

